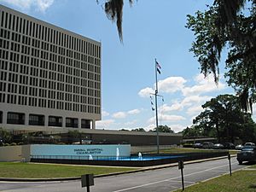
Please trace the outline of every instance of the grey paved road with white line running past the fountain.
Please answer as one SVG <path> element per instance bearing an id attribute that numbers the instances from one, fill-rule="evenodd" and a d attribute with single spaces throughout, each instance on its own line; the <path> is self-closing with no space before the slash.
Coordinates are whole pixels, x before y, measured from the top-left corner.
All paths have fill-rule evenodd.
<path id="1" fill-rule="evenodd" d="M 231 159 L 232 170 L 245 168 L 238 165 L 236 158 Z M 185 186 L 229 173 L 229 161 L 211 160 L 184 166 Z M 154 171 L 130 173 L 112 177 L 95 178 L 95 186 L 90 192 L 169 192 L 181 188 L 181 173 L 177 166 Z M 0 182 L 2 192 L 84 192 L 80 181 L 38 182 L 38 183 L 8 183 Z"/>

